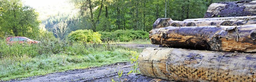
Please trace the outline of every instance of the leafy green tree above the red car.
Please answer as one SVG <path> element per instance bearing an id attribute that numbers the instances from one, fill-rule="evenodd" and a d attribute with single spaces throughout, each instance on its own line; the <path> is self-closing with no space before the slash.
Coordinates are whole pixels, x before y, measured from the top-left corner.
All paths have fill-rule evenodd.
<path id="1" fill-rule="evenodd" d="M 33 8 L 24 6 L 21 0 L 0 0 L 0 36 L 26 36 L 36 37 L 38 35 L 37 20 Z"/>

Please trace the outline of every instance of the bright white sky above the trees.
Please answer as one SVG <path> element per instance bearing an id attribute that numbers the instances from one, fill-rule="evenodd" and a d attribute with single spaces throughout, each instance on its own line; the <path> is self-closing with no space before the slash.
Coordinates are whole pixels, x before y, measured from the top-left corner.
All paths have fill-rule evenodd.
<path id="1" fill-rule="evenodd" d="M 22 2 L 36 9 L 36 12 L 39 13 L 39 20 L 45 20 L 58 13 L 72 14 L 76 11 L 69 0 L 22 0 Z"/>

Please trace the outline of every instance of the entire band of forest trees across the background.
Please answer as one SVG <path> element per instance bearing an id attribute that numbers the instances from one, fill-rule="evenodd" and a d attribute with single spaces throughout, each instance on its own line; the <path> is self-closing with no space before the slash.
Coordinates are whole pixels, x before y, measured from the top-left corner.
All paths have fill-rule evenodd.
<path id="1" fill-rule="evenodd" d="M 158 18 L 203 18 L 211 3 L 226 1 L 237 0 L 70 0 L 79 10 L 78 14 L 57 14 L 38 20 L 38 13 L 20 0 L 1 0 L 0 37 L 35 38 L 40 23 L 60 39 L 78 29 L 150 31 Z"/>

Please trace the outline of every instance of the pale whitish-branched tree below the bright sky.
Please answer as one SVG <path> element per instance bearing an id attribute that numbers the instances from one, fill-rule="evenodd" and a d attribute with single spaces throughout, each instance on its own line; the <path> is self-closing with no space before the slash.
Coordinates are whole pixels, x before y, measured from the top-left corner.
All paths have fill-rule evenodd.
<path id="1" fill-rule="evenodd" d="M 71 31 L 82 29 L 81 23 L 78 23 L 78 18 L 74 15 L 58 14 L 50 16 L 48 19 L 42 21 L 44 27 L 54 33 L 54 36 L 64 39 Z"/>

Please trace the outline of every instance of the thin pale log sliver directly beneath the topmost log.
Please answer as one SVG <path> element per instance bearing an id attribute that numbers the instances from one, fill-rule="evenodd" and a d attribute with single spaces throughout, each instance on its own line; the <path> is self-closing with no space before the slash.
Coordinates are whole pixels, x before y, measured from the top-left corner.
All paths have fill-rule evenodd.
<path id="1" fill-rule="evenodd" d="M 197 19 L 186 19 L 183 21 L 214 21 L 214 20 L 256 20 L 256 16 L 240 16 L 240 17 L 221 17 L 221 18 L 197 18 Z"/>

